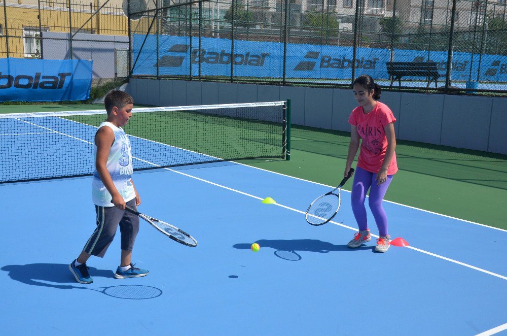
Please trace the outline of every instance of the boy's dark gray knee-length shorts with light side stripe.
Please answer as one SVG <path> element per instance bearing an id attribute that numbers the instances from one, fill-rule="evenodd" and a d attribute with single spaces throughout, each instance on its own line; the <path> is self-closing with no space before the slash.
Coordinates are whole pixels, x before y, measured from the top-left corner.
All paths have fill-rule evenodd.
<path id="1" fill-rule="evenodd" d="M 129 200 L 127 206 L 136 210 L 135 198 Z M 102 258 L 113 242 L 118 225 L 120 225 L 121 249 L 132 251 L 135 237 L 139 232 L 139 217 L 116 207 L 95 206 L 95 212 L 97 213 L 97 227 L 83 250 L 88 254 Z"/>

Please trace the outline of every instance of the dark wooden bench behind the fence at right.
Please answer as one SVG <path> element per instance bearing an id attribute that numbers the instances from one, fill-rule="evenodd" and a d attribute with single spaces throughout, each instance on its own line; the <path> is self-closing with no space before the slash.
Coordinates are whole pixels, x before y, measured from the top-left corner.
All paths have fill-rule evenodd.
<path id="1" fill-rule="evenodd" d="M 428 81 L 426 89 L 433 81 L 437 88 L 437 80 L 443 76 L 438 72 L 437 62 L 387 62 L 386 68 L 387 74 L 392 78 L 390 86 L 395 80 L 398 80 L 398 85 L 402 86 L 402 77 L 426 77 Z"/>

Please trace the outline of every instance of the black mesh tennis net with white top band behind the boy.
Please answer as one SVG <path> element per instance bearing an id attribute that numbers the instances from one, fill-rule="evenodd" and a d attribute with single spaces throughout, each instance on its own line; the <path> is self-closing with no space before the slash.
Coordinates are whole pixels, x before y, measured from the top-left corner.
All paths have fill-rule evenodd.
<path id="1" fill-rule="evenodd" d="M 287 158 L 286 102 L 139 108 L 123 128 L 134 170 Z M 105 110 L 0 114 L 0 183 L 93 174 Z"/>

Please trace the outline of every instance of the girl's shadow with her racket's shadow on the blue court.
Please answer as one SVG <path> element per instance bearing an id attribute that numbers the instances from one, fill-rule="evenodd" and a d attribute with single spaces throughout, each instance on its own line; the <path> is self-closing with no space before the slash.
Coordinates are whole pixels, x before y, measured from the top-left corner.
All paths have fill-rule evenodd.
<path id="1" fill-rule="evenodd" d="M 357 250 L 373 250 L 372 246 L 359 246 L 351 249 L 345 245 L 334 245 L 329 242 L 322 242 L 316 239 L 293 239 L 293 240 L 267 240 L 261 239 L 256 241 L 261 246 L 261 249 L 272 248 L 275 250 L 274 254 L 285 260 L 298 261 L 301 256 L 296 251 L 329 253 L 334 251 L 357 251 Z M 240 250 L 249 249 L 251 244 L 235 244 L 234 248 Z"/>

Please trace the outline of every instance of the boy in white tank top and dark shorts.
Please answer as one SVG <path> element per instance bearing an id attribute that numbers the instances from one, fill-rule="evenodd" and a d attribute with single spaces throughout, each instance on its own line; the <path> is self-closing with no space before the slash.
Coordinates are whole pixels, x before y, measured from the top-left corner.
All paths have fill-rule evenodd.
<path id="1" fill-rule="evenodd" d="M 107 119 L 95 133 L 95 171 L 92 181 L 92 198 L 97 213 L 97 227 L 69 270 L 82 284 L 93 279 L 86 261 L 91 255 L 103 257 L 120 225 L 121 260 L 115 278 L 143 277 L 147 270 L 134 267 L 132 248 L 139 231 L 139 217 L 125 211 L 125 205 L 136 209 L 141 203 L 132 182 L 132 151 L 130 142 L 121 128 L 132 116 L 133 98 L 123 91 L 111 91 L 105 96 Z"/>

